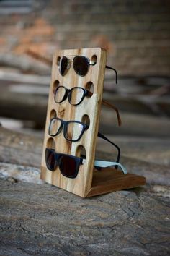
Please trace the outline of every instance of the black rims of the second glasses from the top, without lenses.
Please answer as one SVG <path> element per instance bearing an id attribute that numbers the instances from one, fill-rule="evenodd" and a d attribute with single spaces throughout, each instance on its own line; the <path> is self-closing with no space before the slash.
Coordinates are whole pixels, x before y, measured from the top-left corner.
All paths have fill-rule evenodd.
<path id="1" fill-rule="evenodd" d="M 61 101 L 55 101 L 55 95 L 56 95 L 56 93 L 58 92 L 59 88 L 64 88 L 64 89 L 65 89 L 65 94 L 63 95 L 63 99 L 62 99 Z M 75 89 L 81 89 L 81 90 L 83 90 L 84 94 L 83 94 L 83 96 L 82 96 L 82 98 L 81 98 L 81 101 L 79 101 L 79 103 L 73 104 L 73 103 L 71 103 L 71 93 L 72 93 L 72 91 L 75 90 Z M 55 93 L 54 93 L 54 101 L 55 101 L 55 103 L 62 103 L 62 102 L 65 101 L 66 98 L 68 97 L 68 102 L 69 102 L 72 106 L 78 106 L 78 105 L 81 104 L 81 102 L 84 100 L 84 97 L 85 97 L 85 96 L 91 96 L 91 92 L 90 92 L 89 90 L 86 90 L 86 89 L 81 88 L 81 87 L 76 87 L 76 86 L 75 86 L 75 87 L 73 87 L 73 88 L 71 88 L 71 89 L 68 89 L 68 88 L 66 88 L 66 87 L 63 86 L 63 85 L 60 85 L 60 86 L 58 86 L 58 87 L 56 88 L 56 90 L 55 90 Z"/>

